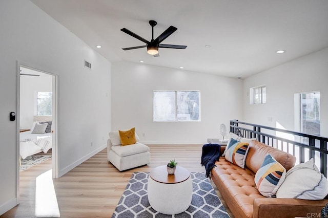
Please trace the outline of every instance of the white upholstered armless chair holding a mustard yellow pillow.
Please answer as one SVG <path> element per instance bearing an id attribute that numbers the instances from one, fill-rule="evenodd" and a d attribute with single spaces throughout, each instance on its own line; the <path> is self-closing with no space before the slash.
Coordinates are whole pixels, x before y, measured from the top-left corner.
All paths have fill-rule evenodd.
<path id="1" fill-rule="evenodd" d="M 127 170 L 150 163 L 149 147 L 139 142 L 121 146 L 118 131 L 110 132 L 107 140 L 107 159 L 119 170 Z"/>

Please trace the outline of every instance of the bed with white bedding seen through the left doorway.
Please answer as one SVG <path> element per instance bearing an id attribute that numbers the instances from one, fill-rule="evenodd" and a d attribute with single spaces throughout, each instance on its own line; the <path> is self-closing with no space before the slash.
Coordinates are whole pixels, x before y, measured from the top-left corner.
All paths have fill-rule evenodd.
<path id="1" fill-rule="evenodd" d="M 44 134 L 32 134 L 35 125 L 42 122 L 49 122 L 51 117 L 42 118 L 40 116 L 34 116 L 34 122 L 31 130 L 19 133 L 19 155 L 23 160 L 28 156 L 35 155 L 39 152 L 44 152 L 45 154 L 48 152 L 50 148 L 52 148 L 52 131 L 51 131 L 51 122 L 50 132 Z M 49 124 L 48 124 L 49 125 Z M 35 133 L 35 131 L 34 131 Z"/>

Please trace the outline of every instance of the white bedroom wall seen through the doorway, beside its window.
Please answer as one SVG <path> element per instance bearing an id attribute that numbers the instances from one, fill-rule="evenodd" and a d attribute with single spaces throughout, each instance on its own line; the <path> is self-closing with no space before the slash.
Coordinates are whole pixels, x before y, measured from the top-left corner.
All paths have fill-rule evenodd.
<path id="1" fill-rule="evenodd" d="M 39 76 L 20 76 L 19 128 L 31 129 L 36 106 L 36 92 L 52 92 L 52 76 L 23 68 L 20 73 Z"/>

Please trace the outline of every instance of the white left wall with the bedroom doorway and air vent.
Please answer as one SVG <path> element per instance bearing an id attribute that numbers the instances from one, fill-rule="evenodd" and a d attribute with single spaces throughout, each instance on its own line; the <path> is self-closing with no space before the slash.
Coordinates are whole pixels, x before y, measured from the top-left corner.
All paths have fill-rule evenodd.
<path id="1" fill-rule="evenodd" d="M 17 60 L 59 75 L 59 175 L 105 147 L 110 131 L 108 60 L 30 1 L 0 1 L 0 214 L 16 204 Z M 92 70 L 84 67 L 92 63 Z M 91 146 L 93 142 L 93 146 Z"/>

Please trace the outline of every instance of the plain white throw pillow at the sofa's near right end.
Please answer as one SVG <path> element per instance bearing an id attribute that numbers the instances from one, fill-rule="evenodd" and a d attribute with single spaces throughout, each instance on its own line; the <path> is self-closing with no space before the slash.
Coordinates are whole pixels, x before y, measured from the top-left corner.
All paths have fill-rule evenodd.
<path id="1" fill-rule="evenodd" d="M 328 181 L 315 165 L 313 158 L 288 170 L 277 198 L 322 200 L 328 194 Z"/>

